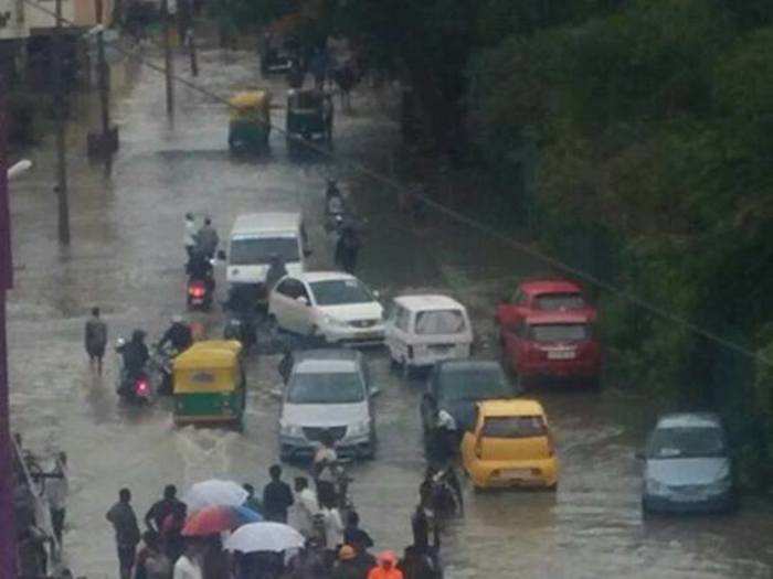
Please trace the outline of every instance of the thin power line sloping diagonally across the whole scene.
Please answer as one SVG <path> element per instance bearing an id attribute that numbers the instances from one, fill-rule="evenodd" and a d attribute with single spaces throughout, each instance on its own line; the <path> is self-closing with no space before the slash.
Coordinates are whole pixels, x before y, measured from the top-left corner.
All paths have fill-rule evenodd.
<path id="1" fill-rule="evenodd" d="M 52 11 L 50 11 L 46 8 L 41 7 L 40 4 L 38 4 L 36 2 L 34 2 L 32 0 L 22 0 L 22 1 L 29 6 L 36 8 L 38 10 L 40 10 L 44 13 L 47 13 L 50 15 L 55 17 L 55 13 L 53 13 Z M 62 19 L 62 21 L 66 22 L 71 26 L 75 26 L 75 23 L 72 21 L 68 21 L 66 19 Z M 117 46 L 116 50 L 118 52 L 120 52 L 121 54 L 125 54 L 129 57 L 137 58 L 141 65 L 144 65 L 144 66 L 146 66 L 146 67 L 148 67 L 148 68 L 150 68 L 150 69 L 152 69 L 161 75 L 166 75 L 166 69 L 163 67 L 158 66 L 157 64 L 148 61 L 147 58 L 145 58 L 142 56 L 137 56 L 134 52 L 130 52 L 130 51 L 123 49 L 120 46 Z M 174 82 L 180 83 L 181 85 L 187 86 L 188 88 L 191 88 L 192 90 L 198 92 L 199 94 L 201 94 L 201 95 L 203 95 L 203 96 L 205 96 L 205 97 L 208 97 L 216 103 L 221 103 L 229 108 L 235 108 L 231 105 L 229 99 L 226 99 L 226 98 L 224 98 L 224 97 L 222 97 L 222 96 L 220 96 L 211 90 L 208 90 L 207 88 L 203 88 L 203 87 L 197 85 L 195 83 L 193 83 L 187 78 L 183 78 L 183 77 L 177 76 L 177 75 L 172 75 L 171 78 Z M 356 161 L 353 159 L 341 158 L 341 157 L 337 156 L 336 153 L 333 153 L 332 151 L 330 151 L 329 149 L 326 149 L 326 148 L 320 147 L 314 142 L 310 142 L 310 141 L 304 139 L 303 137 L 295 137 L 294 135 L 290 135 L 285 129 L 283 129 L 282 127 L 278 127 L 276 125 L 273 125 L 271 121 L 265 122 L 262 120 L 257 120 L 257 122 L 261 125 L 264 125 L 265 127 L 267 127 L 269 129 L 276 130 L 280 135 L 284 135 L 287 139 L 295 141 L 298 144 L 300 144 L 300 146 L 303 146 L 311 151 L 315 151 L 315 152 L 328 158 L 331 161 L 337 161 L 343 165 L 348 165 L 349 168 L 353 169 L 356 172 L 359 172 L 363 175 L 369 176 L 373 181 L 381 183 L 382 185 L 395 191 L 399 194 L 407 192 L 407 190 L 405 189 L 405 186 L 402 183 L 399 183 L 395 180 L 393 180 L 389 176 L 385 176 L 385 175 L 379 173 L 378 171 L 374 171 L 373 169 L 370 169 L 369 167 L 367 167 L 366 164 L 363 164 L 359 161 Z M 701 326 L 690 322 L 689 320 L 681 318 L 680 315 L 671 313 L 668 310 L 665 310 L 665 309 L 663 309 L 658 305 L 655 305 L 648 301 L 645 301 L 644 299 L 639 298 L 638 296 L 631 293 L 631 292 L 627 292 L 627 291 L 607 282 L 607 281 L 599 279 L 597 277 L 593 276 L 592 274 L 589 274 L 586 271 L 583 271 L 582 269 L 572 267 L 569 264 L 564 264 L 563 261 L 561 261 L 554 257 L 551 257 L 542 251 L 539 251 L 539 250 L 534 249 L 533 247 L 530 247 L 527 244 L 519 243 L 519 242 L 512 239 L 511 237 L 507 236 L 506 234 L 491 228 L 489 225 L 486 225 L 483 222 L 474 219 L 474 218 L 472 218 L 467 215 L 464 215 L 463 213 L 460 213 L 452 207 L 443 205 L 442 203 L 431 199 L 428 195 L 426 195 L 424 193 L 416 192 L 416 191 L 414 191 L 412 193 L 415 197 L 420 199 L 427 206 L 437 211 L 437 213 L 441 213 L 441 214 L 449 217 L 451 219 L 453 219 L 459 224 L 466 225 L 467 227 L 475 229 L 484 235 L 493 237 L 493 238 L 497 239 L 498 242 L 500 242 L 501 244 L 515 249 L 516 251 L 520 251 L 522 254 L 526 254 L 534 259 L 538 259 L 538 260 L 549 265 L 550 267 L 552 267 L 559 271 L 562 271 L 563 274 L 566 274 L 569 276 L 581 279 L 585 283 L 589 283 L 591 286 L 595 286 L 596 288 L 600 288 L 608 293 L 615 294 L 615 296 L 624 299 L 628 303 L 631 303 L 637 308 L 640 308 L 640 309 L 649 312 L 650 314 L 653 314 L 657 318 L 669 321 L 676 325 L 680 325 L 680 326 L 685 328 L 686 330 L 689 330 L 693 334 L 700 335 L 700 336 L 702 336 L 711 342 L 714 342 L 719 345 L 722 345 L 722 346 L 727 347 L 728 350 L 732 350 L 733 352 L 742 354 L 742 355 L 744 355 L 751 360 L 754 360 L 756 362 L 761 362 L 765 365 L 773 365 L 773 361 L 769 360 L 767 357 L 761 355 L 758 352 L 752 352 L 752 351 L 748 350 L 746 347 L 742 346 L 741 344 L 738 344 L 737 342 L 728 340 L 728 339 L 717 334 L 716 332 L 712 332 L 710 330 L 706 330 L 705 328 L 701 328 Z"/>

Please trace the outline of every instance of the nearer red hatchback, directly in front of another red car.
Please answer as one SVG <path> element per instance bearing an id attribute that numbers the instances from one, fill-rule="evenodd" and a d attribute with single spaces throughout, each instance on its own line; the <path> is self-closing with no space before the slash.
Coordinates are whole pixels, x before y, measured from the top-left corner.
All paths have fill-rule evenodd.
<path id="1" fill-rule="evenodd" d="M 583 311 L 530 313 L 502 326 L 501 343 L 505 364 L 523 388 L 540 382 L 599 384 L 601 345 Z"/>

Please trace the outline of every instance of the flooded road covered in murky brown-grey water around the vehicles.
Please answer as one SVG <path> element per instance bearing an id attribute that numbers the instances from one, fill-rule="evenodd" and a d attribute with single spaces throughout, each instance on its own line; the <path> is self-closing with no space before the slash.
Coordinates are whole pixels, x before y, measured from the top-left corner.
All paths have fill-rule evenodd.
<path id="1" fill-rule="evenodd" d="M 198 83 L 218 95 L 257 83 L 251 54 L 200 55 Z M 184 69 L 182 61 L 178 71 Z M 273 81 L 282 104 L 284 83 Z M 103 379 L 93 377 L 83 351 L 88 310 L 100 305 L 110 339 L 134 328 L 151 341 L 184 310 L 182 217 L 209 213 L 221 237 L 244 212 L 301 208 L 309 225 L 313 268 L 331 256 L 321 226 L 325 178 L 338 175 L 369 219 L 359 275 L 382 294 L 437 290 L 466 303 L 475 318 L 478 356 L 496 355 L 494 304 L 519 277 L 542 270 L 487 238 L 445 222 L 414 232 L 395 213 L 393 193 L 320 159 L 294 162 L 284 137 L 272 135 L 267 159 L 229 154 L 227 110 L 190 88 L 177 88 L 177 116 L 163 116 L 163 85 L 139 69 L 130 92 L 116 98 L 121 144 L 112 176 L 89 167 L 85 141 L 72 131 L 73 245 L 56 244 L 52 193 L 53 151 L 32 153 L 35 169 L 13 182 L 17 286 L 9 304 L 12 422 L 32 449 L 67 451 L 72 497 L 67 557 L 89 579 L 115 577 L 113 533 L 104 518 L 121 486 L 144 515 L 167 483 L 180 487 L 211 476 L 263 486 L 277 458 L 279 384 L 276 356 L 252 356 L 244 435 L 174 429 L 166 401 L 149 408 L 117 404 L 118 361 L 108 353 Z M 396 127 L 373 112 L 363 89 L 352 114 L 338 111 L 336 154 L 386 167 Z M 277 109 L 274 121 L 284 125 Z M 219 294 L 224 281 L 219 271 Z M 212 336 L 222 312 L 190 317 Z M 422 383 L 390 372 L 384 352 L 368 353 L 382 394 L 377 401 L 377 459 L 356 465 L 352 494 L 380 548 L 401 550 L 425 465 L 419 401 Z M 635 380 L 635 376 L 632 376 Z M 639 512 L 640 447 L 657 407 L 646 395 L 537 393 L 559 441 L 561 479 L 549 493 L 474 494 L 466 516 L 445 539 L 447 577 L 770 578 L 773 510 L 755 500 L 727 517 L 644 522 Z M 286 478 L 294 473 L 287 469 Z"/>

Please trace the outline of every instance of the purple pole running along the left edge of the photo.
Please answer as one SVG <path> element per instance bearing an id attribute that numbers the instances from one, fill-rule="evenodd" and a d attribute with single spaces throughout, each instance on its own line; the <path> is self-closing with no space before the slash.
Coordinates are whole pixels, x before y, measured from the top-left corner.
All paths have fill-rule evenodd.
<path id="1" fill-rule="evenodd" d="M 11 216 L 8 200 L 8 109 L 0 75 L 0 576 L 17 576 L 17 537 L 13 524 L 13 452 L 11 451 L 10 403 L 8 399 L 8 343 L 6 339 L 6 292 L 13 286 L 11 262 Z"/>

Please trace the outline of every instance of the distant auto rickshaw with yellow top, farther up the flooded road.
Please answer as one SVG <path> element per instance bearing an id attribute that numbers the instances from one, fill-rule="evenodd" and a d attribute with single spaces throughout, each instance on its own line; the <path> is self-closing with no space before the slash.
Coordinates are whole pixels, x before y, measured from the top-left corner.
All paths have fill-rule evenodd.
<path id="1" fill-rule="evenodd" d="M 271 135 L 271 93 L 244 90 L 229 101 L 229 148 L 232 151 L 257 151 L 268 147 Z"/>

